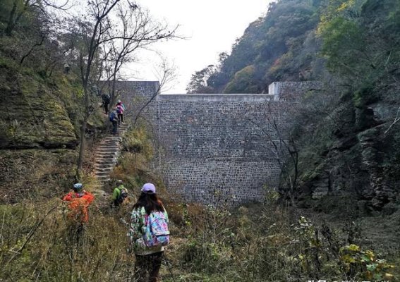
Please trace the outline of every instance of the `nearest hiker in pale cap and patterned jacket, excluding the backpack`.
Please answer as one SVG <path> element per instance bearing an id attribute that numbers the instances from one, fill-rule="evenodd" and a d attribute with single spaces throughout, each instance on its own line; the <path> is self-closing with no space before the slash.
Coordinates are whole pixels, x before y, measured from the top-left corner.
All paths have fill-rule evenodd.
<path id="1" fill-rule="evenodd" d="M 150 218 L 150 214 L 161 212 L 168 223 L 168 214 L 159 200 L 156 188 L 152 183 L 145 183 L 141 190 L 138 201 L 133 206 L 131 214 L 131 228 L 128 235 L 131 243 L 134 245 L 135 252 L 135 274 L 134 281 L 157 282 L 159 277 L 159 269 L 162 263 L 162 255 L 164 247 L 144 247 L 140 246 L 140 240 L 146 232 L 146 226 Z M 146 279 L 148 276 L 148 279 Z"/>

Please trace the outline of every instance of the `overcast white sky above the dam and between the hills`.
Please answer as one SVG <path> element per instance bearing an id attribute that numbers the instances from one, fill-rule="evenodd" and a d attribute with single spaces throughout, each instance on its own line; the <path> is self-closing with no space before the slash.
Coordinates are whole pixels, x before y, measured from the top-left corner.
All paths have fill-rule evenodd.
<path id="1" fill-rule="evenodd" d="M 164 93 L 186 93 L 195 71 L 218 61 L 222 51 L 231 51 L 236 38 L 258 17 L 265 15 L 272 0 L 138 0 L 156 20 L 181 25 L 179 34 L 188 39 L 164 42 L 153 47 L 177 68 L 176 82 Z M 157 55 L 141 54 L 140 65 L 131 68 L 131 80 L 157 80 Z M 134 70 L 137 69 L 137 71 Z"/>

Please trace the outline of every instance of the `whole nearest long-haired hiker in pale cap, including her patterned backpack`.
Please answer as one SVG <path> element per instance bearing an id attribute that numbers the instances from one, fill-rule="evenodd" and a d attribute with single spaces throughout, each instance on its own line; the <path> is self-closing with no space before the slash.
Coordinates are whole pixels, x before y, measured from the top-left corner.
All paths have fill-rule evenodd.
<path id="1" fill-rule="evenodd" d="M 154 184 L 145 183 L 138 202 L 133 205 L 128 232 L 135 253 L 133 281 L 157 282 L 164 246 L 169 244 L 168 222 Z"/>

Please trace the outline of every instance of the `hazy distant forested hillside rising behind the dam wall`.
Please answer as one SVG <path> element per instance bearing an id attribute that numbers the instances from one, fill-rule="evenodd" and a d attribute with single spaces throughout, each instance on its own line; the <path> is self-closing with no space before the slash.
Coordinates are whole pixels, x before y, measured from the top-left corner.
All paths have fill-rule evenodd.
<path id="1" fill-rule="evenodd" d="M 318 2 L 318 3 L 317 3 Z M 266 92 L 274 80 L 313 78 L 319 1 L 286 0 L 269 5 L 267 16 L 250 23 L 230 55 L 207 79 L 212 92 Z M 252 66 L 248 73 L 248 66 Z M 246 85 L 238 85 L 247 69 Z M 238 75 L 236 75 L 238 74 Z M 193 83 L 190 82 L 192 85 Z M 191 92 L 200 92 L 196 89 Z"/>

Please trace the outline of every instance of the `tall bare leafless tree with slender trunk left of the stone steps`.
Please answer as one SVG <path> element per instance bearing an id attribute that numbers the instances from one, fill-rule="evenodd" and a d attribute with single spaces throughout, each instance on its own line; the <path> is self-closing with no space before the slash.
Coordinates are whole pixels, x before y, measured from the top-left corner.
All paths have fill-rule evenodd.
<path id="1" fill-rule="evenodd" d="M 87 121 L 94 110 L 90 87 L 105 73 L 114 103 L 116 81 L 123 65 L 133 61 L 135 51 L 165 39 L 176 37 L 177 26 L 169 29 L 152 20 L 147 11 L 127 0 L 88 2 L 88 16 L 77 20 L 80 78 L 85 109 L 80 127 L 80 149 L 76 177 L 80 179 L 85 152 Z"/>

